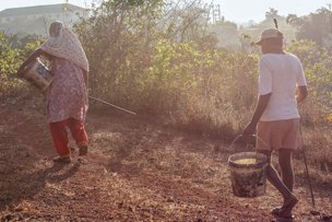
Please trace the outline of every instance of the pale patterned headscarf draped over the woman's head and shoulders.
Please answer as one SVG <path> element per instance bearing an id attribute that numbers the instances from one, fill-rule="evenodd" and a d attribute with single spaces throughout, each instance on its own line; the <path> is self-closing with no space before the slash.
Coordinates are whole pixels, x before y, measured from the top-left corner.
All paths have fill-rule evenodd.
<path id="1" fill-rule="evenodd" d="M 49 38 L 40 48 L 62 59 L 67 59 L 78 67 L 88 71 L 88 61 L 76 35 L 63 25 L 62 22 L 54 22 L 49 27 Z"/>

